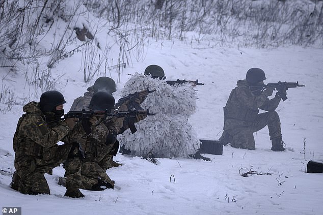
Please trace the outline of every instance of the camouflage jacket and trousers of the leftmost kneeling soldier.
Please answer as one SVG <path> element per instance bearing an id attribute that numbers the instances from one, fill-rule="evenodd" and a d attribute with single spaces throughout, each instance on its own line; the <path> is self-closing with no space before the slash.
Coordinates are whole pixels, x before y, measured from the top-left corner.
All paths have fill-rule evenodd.
<path id="1" fill-rule="evenodd" d="M 23 194 L 50 194 L 44 173 L 52 174 L 52 169 L 66 162 L 66 187 L 80 185 L 80 160 L 73 159 L 72 142 L 85 135 L 80 124 L 73 130 L 63 120 L 52 115 L 44 115 L 36 102 L 23 107 L 13 139 L 15 168 L 11 187 Z M 47 114 L 47 113 L 46 113 Z M 65 144 L 57 145 L 59 141 Z"/>

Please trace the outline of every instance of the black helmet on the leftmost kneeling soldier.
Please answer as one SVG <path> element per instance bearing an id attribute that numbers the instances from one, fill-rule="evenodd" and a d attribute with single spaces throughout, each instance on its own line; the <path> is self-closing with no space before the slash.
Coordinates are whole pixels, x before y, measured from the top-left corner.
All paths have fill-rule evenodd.
<path id="1" fill-rule="evenodd" d="M 46 91 L 40 96 L 39 107 L 43 113 L 54 111 L 56 106 L 66 103 L 63 95 L 56 90 Z"/>

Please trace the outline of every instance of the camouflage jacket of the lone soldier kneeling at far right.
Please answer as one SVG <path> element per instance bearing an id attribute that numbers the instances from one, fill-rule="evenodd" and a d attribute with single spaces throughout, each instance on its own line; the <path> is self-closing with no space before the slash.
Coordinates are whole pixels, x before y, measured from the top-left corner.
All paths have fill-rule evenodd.
<path id="1" fill-rule="evenodd" d="M 253 94 L 246 80 L 238 80 L 224 107 L 224 130 L 250 125 L 257 117 L 259 109 L 274 111 L 279 102 L 278 96 L 270 100 L 262 93 Z"/>

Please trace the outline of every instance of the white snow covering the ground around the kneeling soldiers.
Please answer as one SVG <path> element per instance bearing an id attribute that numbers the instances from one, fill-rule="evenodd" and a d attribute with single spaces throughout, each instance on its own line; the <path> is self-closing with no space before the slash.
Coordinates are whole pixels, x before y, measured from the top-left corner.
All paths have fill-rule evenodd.
<path id="1" fill-rule="evenodd" d="M 105 41 L 102 29 L 100 35 L 98 40 Z M 67 101 L 65 110 L 94 82 L 83 82 L 81 57 L 79 53 L 65 58 L 51 70 L 53 74 L 64 74 L 57 88 Z M 118 153 L 114 160 L 123 165 L 107 170 L 116 188 L 82 190 L 86 196 L 82 199 L 64 197 L 66 189 L 57 184 L 58 177 L 64 175 L 62 167 L 55 168 L 52 175 L 45 174 L 51 195 L 23 195 L 9 188 L 8 175 L 14 171 L 12 138 L 22 114 L 20 104 L 0 113 L 0 207 L 21 206 L 22 214 L 322 214 L 323 173 L 306 173 L 310 160 L 323 159 L 322 49 L 208 47 L 151 39 L 143 60 L 136 62 L 133 57 L 122 74 L 111 72 L 111 77 L 119 80 L 116 101 L 130 77 L 127 74 L 143 73 L 151 64 L 164 69 L 166 80 L 198 79 L 205 83 L 196 86 L 197 111 L 189 119 L 200 139 L 219 139 L 222 108 L 236 81 L 244 79 L 248 69 L 263 69 L 265 82 L 305 84 L 288 89 L 288 99 L 277 108 L 287 150 L 271 151 L 268 130 L 264 128 L 254 134 L 256 150 L 224 146 L 222 156 L 204 154 L 212 159 L 210 162 L 164 158 L 155 165 Z M 1 70 L 0 73 L 5 75 Z M 33 91 L 25 86 L 22 74 L 6 77 L 7 86 L 14 87 L 17 98 Z M 98 75 L 102 74 L 100 71 Z M 261 174 L 241 177 L 239 170 Z"/>

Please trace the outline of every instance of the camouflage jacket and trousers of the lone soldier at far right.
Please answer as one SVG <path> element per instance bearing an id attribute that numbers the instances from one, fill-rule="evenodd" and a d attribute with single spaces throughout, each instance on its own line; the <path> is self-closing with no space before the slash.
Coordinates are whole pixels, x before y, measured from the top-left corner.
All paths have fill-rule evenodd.
<path id="1" fill-rule="evenodd" d="M 268 126 L 271 139 L 281 137 L 280 119 L 275 109 L 280 97 L 255 95 L 246 80 L 238 80 L 224 107 L 224 132 L 220 141 L 236 148 L 255 149 L 253 133 Z M 259 113 L 259 109 L 267 112 Z"/>

